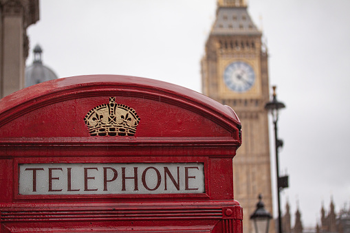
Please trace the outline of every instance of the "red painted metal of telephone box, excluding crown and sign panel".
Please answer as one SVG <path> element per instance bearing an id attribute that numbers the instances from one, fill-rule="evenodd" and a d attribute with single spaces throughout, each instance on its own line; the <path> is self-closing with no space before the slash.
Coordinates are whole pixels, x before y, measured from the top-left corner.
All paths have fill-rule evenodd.
<path id="1" fill-rule="evenodd" d="M 90 109 L 116 97 L 135 136 L 91 137 Z M 230 107 L 184 87 L 129 76 L 44 82 L 0 100 L 1 232 L 242 232 L 232 158 L 241 123 Z M 19 164 L 204 164 L 205 193 L 19 195 Z"/>

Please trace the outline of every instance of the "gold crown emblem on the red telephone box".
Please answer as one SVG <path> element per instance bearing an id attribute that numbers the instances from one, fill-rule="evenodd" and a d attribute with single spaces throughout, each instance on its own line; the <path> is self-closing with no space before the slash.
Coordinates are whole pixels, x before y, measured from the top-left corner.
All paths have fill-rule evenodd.
<path id="1" fill-rule="evenodd" d="M 91 136 L 133 136 L 140 118 L 131 107 L 116 104 L 116 98 L 110 97 L 108 104 L 91 109 L 84 121 Z"/>

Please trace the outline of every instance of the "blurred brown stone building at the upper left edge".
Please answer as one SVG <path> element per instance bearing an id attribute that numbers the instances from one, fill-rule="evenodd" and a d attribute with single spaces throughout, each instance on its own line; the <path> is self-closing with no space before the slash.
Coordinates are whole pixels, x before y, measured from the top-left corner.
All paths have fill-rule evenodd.
<path id="1" fill-rule="evenodd" d="M 39 20 L 39 0 L 0 0 L 0 98 L 25 86 L 27 28 Z"/>

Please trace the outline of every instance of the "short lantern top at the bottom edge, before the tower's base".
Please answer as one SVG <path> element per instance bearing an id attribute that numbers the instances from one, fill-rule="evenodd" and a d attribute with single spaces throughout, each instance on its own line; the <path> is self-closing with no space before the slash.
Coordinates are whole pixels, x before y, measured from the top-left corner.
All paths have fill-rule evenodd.
<path id="1" fill-rule="evenodd" d="M 262 197 L 259 195 L 259 202 L 256 204 L 254 213 L 250 215 L 250 219 L 254 222 L 255 233 L 268 233 L 272 216 L 265 210 L 264 203 L 261 199 Z"/>

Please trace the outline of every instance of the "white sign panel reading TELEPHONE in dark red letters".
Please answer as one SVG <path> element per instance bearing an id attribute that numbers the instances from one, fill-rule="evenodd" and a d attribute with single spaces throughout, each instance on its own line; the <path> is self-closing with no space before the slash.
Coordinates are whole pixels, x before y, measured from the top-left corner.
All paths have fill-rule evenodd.
<path id="1" fill-rule="evenodd" d="M 19 164 L 19 195 L 203 193 L 204 164 Z"/>

